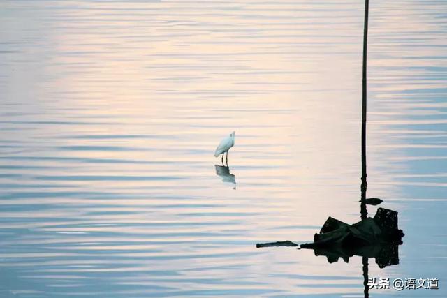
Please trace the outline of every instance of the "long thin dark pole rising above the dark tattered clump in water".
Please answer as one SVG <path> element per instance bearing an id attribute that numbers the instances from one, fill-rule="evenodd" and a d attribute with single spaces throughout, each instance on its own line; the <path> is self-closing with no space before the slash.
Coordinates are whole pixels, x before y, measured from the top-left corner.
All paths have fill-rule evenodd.
<path id="1" fill-rule="evenodd" d="M 363 27 L 363 72 L 362 72 L 362 204 L 365 204 L 366 199 L 366 112 L 367 112 L 367 49 L 368 49 L 368 13 L 369 0 L 365 0 L 365 22 Z M 365 209 L 366 210 L 366 209 Z M 363 211 L 363 210 L 362 210 Z M 363 212 L 362 212 L 363 213 Z M 366 212 L 365 212 L 366 213 Z M 362 217 L 366 214 L 362 214 Z"/>

